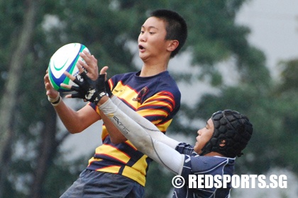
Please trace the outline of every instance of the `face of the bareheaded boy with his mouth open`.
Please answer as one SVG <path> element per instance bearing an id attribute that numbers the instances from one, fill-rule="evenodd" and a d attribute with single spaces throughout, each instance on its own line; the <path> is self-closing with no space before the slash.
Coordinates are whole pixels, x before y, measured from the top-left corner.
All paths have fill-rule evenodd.
<path id="1" fill-rule="evenodd" d="M 138 52 L 143 62 L 151 58 L 158 60 L 169 53 L 167 47 L 171 40 L 165 40 L 166 35 L 165 22 L 160 18 L 150 17 L 145 21 L 138 36 Z"/>

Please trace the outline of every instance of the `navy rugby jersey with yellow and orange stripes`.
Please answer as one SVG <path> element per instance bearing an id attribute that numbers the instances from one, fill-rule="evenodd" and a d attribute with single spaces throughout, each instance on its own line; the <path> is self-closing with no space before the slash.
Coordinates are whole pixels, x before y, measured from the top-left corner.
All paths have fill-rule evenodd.
<path id="1" fill-rule="evenodd" d="M 168 71 L 149 77 L 140 77 L 139 74 L 140 71 L 113 76 L 109 79 L 112 92 L 165 133 L 180 108 L 179 88 Z M 99 113 L 96 105 L 89 105 Z M 101 139 L 103 144 L 96 148 L 87 169 L 121 174 L 145 186 L 148 165 L 152 160 L 140 153 L 131 141 L 112 144 L 104 125 Z"/>

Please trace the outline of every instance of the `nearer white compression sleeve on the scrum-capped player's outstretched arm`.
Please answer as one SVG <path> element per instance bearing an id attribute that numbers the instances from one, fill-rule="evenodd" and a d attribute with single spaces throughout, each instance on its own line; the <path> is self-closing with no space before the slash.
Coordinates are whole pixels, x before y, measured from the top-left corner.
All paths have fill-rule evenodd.
<path id="1" fill-rule="evenodd" d="M 148 120 L 147 121 L 149 123 L 145 124 L 143 120 L 146 119 L 138 115 L 137 112 L 131 110 L 129 107 L 128 112 L 125 111 L 124 113 L 110 99 L 107 100 L 106 103 L 101 105 L 99 108 L 107 117 L 109 117 L 109 120 L 114 123 L 114 125 L 121 131 L 121 133 L 126 136 L 126 138 L 130 140 L 133 145 L 136 146 L 136 148 L 138 148 L 139 151 L 149 156 L 161 165 L 164 165 L 173 173 L 177 175 L 181 173 L 184 155 L 176 151 L 174 148 L 167 146 L 167 144 L 159 141 L 159 139 L 155 139 L 156 136 L 151 136 L 151 134 L 162 134 L 162 132 L 159 132 L 154 124 L 152 124 Z M 138 123 L 138 121 L 140 121 L 140 118 L 142 118 L 141 124 L 144 124 L 142 126 Z M 145 127 L 146 129 L 144 129 L 143 127 Z M 160 135 L 158 135 L 157 137 L 159 136 Z M 162 134 L 161 136 L 165 136 L 165 134 Z M 167 139 L 170 138 L 167 137 Z"/>

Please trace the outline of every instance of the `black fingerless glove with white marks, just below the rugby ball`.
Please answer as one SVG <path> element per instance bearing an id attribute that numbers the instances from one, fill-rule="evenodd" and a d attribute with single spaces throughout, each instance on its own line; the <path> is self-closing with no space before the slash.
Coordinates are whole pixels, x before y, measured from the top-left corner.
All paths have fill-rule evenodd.
<path id="1" fill-rule="evenodd" d="M 106 95 L 106 87 L 104 83 L 105 74 L 99 75 L 96 81 L 92 81 L 85 72 L 79 74 L 82 78 L 75 78 L 74 83 L 78 86 L 72 86 L 70 90 L 77 91 L 72 93 L 72 98 L 82 98 L 91 103 L 97 104 L 99 100 Z"/>

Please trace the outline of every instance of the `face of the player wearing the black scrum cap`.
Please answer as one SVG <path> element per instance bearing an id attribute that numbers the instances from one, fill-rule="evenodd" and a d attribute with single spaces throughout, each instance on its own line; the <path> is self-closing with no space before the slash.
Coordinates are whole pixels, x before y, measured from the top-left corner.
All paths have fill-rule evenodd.
<path id="1" fill-rule="evenodd" d="M 211 136 L 214 133 L 214 124 L 211 118 L 206 122 L 206 127 L 203 129 L 199 129 L 197 132 L 197 142 L 194 145 L 194 151 L 200 154 L 202 153 L 202 148 L 204 148 L 205 144 L 211 139 Z"/>

